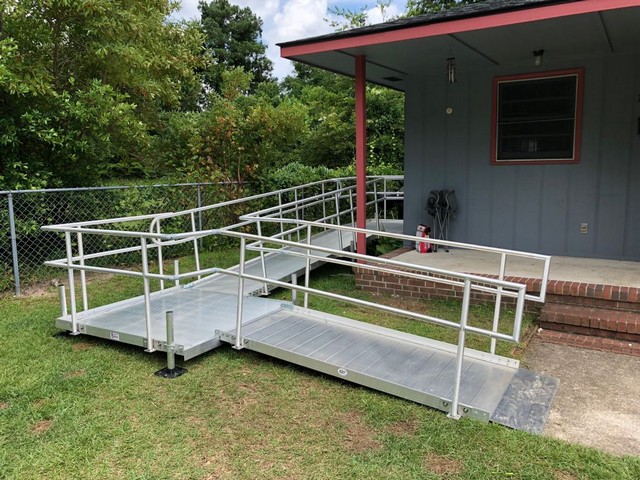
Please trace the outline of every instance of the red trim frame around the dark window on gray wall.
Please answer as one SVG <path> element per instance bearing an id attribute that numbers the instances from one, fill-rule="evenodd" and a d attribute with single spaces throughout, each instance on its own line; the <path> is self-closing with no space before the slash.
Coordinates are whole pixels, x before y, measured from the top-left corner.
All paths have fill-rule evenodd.
<path id="1" fill-rule="evenodd" d="M 576 121 L 573 134 L 573 158 L 544 159 L 544 160 L 498 160 L 498 84 L 514 80 L 537 80 L 543 78 L 576 75 L 578 88 L 576 90 Z M 582 144 L 582 102 L 584 92 L 584 68 L 555 70 L 551 72 L 535 72 L 521 75 L 509 75 L 493 78 L 493 92 L 491 99 L 491 165 L 550 165 L 580 163 L 580 146 Z"/>

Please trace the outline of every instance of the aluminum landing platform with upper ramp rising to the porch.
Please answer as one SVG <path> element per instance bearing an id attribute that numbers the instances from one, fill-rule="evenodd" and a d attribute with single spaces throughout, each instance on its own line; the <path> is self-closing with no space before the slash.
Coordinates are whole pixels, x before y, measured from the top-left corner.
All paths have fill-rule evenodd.
<path id="1" fill-rule="evenodd" d="M 370 220 L 370 227 L 375 221 Z M 402 221 L 380 220 L 387 231 L 402 228 Z M 340 245 L 338 235 L 342 235 L 342 246 L 349 248 L 353 235 L 343 231 L 329 231 L 314 235 L 312 244 L 337 249 Z M 286 250 L 286 249 L 285 249 Z M 303 249 L 300 249 L 303 250 Z M 319 254 L 322 256 L 322 254 Z M 318 267 L 321 260 L 313 260 L 311 268 Z M 286 253 L 268 253 L 265 255 L 267 275 L 271 279 L 288 282 L 294 273 L 305 269 L 305 259 Z M 238 267 L 231 270 L 238 270 Z M 262 276 L 260 258 L 254 258 L 245 265 L 245 273 Z M 256 295 L 263 290 L 263 283 L 252 280 L 244 282 L 244 294 Z M 164 351 L 166 342 L 165 312 L 172 310 L 175 315 L 176 353 L 189 360 L 221 345 L 216 330 L 226 330 L 235 325 L 238 294 L 238 279 L 232 275 L 214 274 L 196 280 L 190 284 L 166 288 L 151 294 L 151 326 L 153 348 Z M 280 308 L 281 302 L 256 298 L 246 298 L 245 321 L 251 321 L 268 313 L 270 309 Z M 149 348 L 146 337 L 144 296 L 139 296 L 91 308 L 77 313 L 80 333 L 106 338 L 130 345 Z M 56 319 L 56 327 L 72 331 L 71 315 L 62 315 Z"/>

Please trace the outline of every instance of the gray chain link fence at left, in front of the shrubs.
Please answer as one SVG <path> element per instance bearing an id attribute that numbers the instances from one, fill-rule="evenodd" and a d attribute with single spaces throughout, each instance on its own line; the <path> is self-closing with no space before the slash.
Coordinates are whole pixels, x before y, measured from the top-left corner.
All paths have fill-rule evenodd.
<path id="1" fill-rule="evenodd" d="M 224 185 L 213 183 L 0 192 L 0 292 L 20 295 L 24 287 L 59 275 L 43 262 L 65 256 L 64 236 L 43 232 L 43 225 L 180 211 L 226 198 Z M 221 220 L 206 213 L 198 218 L 200 228 Z M 85 253 L 104 250 L 92 243 L 104 241 L 87 238 Z"/>

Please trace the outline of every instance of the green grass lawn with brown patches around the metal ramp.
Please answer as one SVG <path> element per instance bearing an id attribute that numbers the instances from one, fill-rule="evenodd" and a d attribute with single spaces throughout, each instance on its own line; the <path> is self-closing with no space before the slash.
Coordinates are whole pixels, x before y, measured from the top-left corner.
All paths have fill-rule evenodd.
<path id="1" fill-rule="evenodd" d="M 233 262 L 224 253 L 211 260 Z M 320 269 L 314 282 L 372 298 L 354 293 L 348 269 Z M 90 285 L 94 305 L 139 293 L 130 278 Z M 451 318 L 459 311 L 455 302 L 409 305 Z M 441 339 L 457 335 L 325 299 L 312 298 L 310 306 Z M 219 348 L 188 362 L 188 374 L 161 379 L 153 372 L 165 365 L 162 353 L 54 338 L 58 312 L 53 287 L 0 299 L 0 478 L 640 478 L 638 458 L 454 421 L 248 351 Z M 474 307 L 472 316 L 490 322 L 492 310 Z"/>

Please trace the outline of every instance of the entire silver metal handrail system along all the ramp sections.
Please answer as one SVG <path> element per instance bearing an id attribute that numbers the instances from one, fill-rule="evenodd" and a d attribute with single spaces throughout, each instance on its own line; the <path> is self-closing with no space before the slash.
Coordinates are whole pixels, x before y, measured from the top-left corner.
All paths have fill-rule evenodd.
<path id="1" fill-rule="evenodd" d="M 394 177 L 393 180 L 400 180 L 401 177 Z M 483 247 L 478 245 L 465 244 L 460 242 L 451 242 L 446 240 L 430 239 L 431 243 L 471 249 L 476 251 L 484 251 L 500 254 L 501 265 L 498 278 L 490 278 L 484 276 L 478 276 L 467 273 L 454 272 L 444 269 L 437 269 L 433 267 L 420 266 L 414 264 L 408 264 L 394 259 L 387 259 L 381 257 L 369 257 L 359 254 L 354 251 L 345 251 L 342 245 L 343 233 L 349 233 L 355 238 L 358 234 L 377 235 L 379 237 L 388 237 L 404 242 L 415 242 L 416 237 L 405 234 L 396 234 L 389 232 L 381 232 L 379 230 L 368 230 L 363 228 L 357 228 L 353 226 L 354 219 L 352 218 L 354 206 L 353 206 L 353 191 L 354 186 L 343 186 L 343 182 L 351 181 L 352 179 L 332 179 L 321 182 L 312 182 L 306 186 L 318 186 L 320 185 L 321 193 L 310 196 L 304 196 L 303 188 L 306 186 L 294 187 L 289 189 L 282 189 L 276 192 L 269 192 L 260 194 L 257 196 L 246 197 L 243 199 L 236 199 L 227 202 L 220 202 L 218 204 L 209 205 L 202 208 L 189 209 L 181 212 L 169 212 L 155 215 L 142 215 L 135 217 L 124 217 L 118 219 L 109 220 L 95 220 L 89 222 L 78 222 L 73 224 L 52 225 L 44 227 L 45 230 L 57 231 L 64 233 L 66 240 L 66 258 L 53 260 L 46 262 L 47 265 L 66 268 L 69 274 L 69 293 L 71 296 L 71 323 L 72 333 L 78 333 L 77 322 L 77 305 L 75 303 L 75 271 L 80 272 L 80 283 L 82 288 L 82 308 L 87 310 L 88 299 L 86 291 L 86 278 L 85 272 L 109 272 L 123 275 L 136 276 L 142 279 L 144 286 L 144 306 L 145 306 L 145 324 L 146 324 L 146 342 L 147 350 L 153 351 L 153 332 L 151 329 L 151 288 L 150 280 L 160 280 L 161 288 L 164 288 L 164 282 L 172 282 L 178 285 L 181 280 L 202 278 L 204 275 L 211 275 L 214 273 L 233 275 L 238 278 L 238 299 L 237 299 L 237 321 L 236 321 L 236 348 L 242 348 L 242 314 L 243 314 L 243 293 L 244 282 L 246 280 L 257 281 L 263 283 L 264 291 L 267 291 L 267 285 L 273 285 L 278 287 L 285 287 L 291 289 L 292 292 L 302 292 L 304 294 L 304 307 L 308 307 L 309 295 L 320 295 L 328 298 L 351 302 L 361 306 L 367 306 L 379 311 L 385 311 L 389 313 L 400 314 L 408 318 L 417 319 L 420 321 L 427 321 L 437 325 L 454 328 L 458 330 L 458 344 L 456 353 L 456 377 L 454 381 L 454 394 L 451 403 L 450 416 L 458 418 L 458 401 L 460 393 L 460 378 L 462 373 L 462 365 L 464 359 L 464 351 L 466 344 L 466 334 L 474 333 L 486 336 L 491 340 L 491 353 L 495 353 L 496 340 L 518 342 L 521 333 L 522 316 L 524 312 L 525 300 L 544 301 L 546 292 L 546 283 L 548 279 L 549 260 L 550 257 L 540 254 L 519 252 L 514 250 Z M 386 202 L 390 198 L 401 198 L 402 195 L 399 192 L 389 192 L 387 190 L 387 181 L 385 177 L 376 177 L 367 181 L 368 185 L 373 186 L 373 192 L 367 192 L 367 197 L 373 195 L 373 200 L 367 201 L 368 205 L 373 205 L 375 208 L 376 219 L 380 218 L 380 203 L 383 204 L 382 216 L 386 218 Z M 326 186 L 330 183 L 334 187 L 327 190 Z M 378 184 L 382 183 L 382 191 L 378 189 Z M 295 200 L 293 202 L 283 203 L 283 193 L 293 192 Z M 298 193 L 300 192 L 300 194 Z M 221 208 L 233 204 L 247 202 L 258 198 L 277 198 L 278 204 L 273 207 L 268 207 L 255 212 L 248 212 L 239 217 L 239 222 L 234 225 L 225 226 L 217 229 L 198 230 L 195 222 L 195 215 L 205 210 L 213 208 Z M 302 197 L 302 198 L 300 198 Z M 348 206 L 342 207 L 341 200 L 348 201 Z M 342 202 L 345 203 L 345 202 Z M 313 220 L 305 219 L 305 209 L 311 207 L 322 206 L 322 216 Z M 334 213 L 332 213 L 334 211 Z M 190 231 L 182 233 L 166 234 L 162 233 L 162 221 L 168 218 L 186 215 L 191 220 Z M 285 218 L 285 215 L 295 215 L 296 218 Z M 342 223 L 341 217 L 344 215 L 350 215 L 350 224 Z M 108 227 L 111 223 L 126 223 L 130 221 L 139 222 L 140 220 L 149 220 L 149 231 L 127 231 L 127 230 L 114 230 L 109 228 L 96 228 L 96 227 Z M 279 225 L 276 228 L 277 233 L 268 236 L 262 234 L 262 224 L 271 223 Z M 248 233 L 242 231 L 240 227 L 246 227 L 255 225 L 257 234 Z M 314 229 L 322 229 L 324 231 L 335 231 L 340 239 L 340 246 L 338 249 L 321 247 L 314 245 L 312 242 Z M 298 236 L 295 240 L 291 238 L 291 234 L 298 232 L 302 233 L 304 238 Z M 126 247 L 120 249 L 108 250 L 105 252 L 98 252 L 92 254 L 84 254 L 82 249 L 82 235 L 115 235 L 124 237 L 137 238 L 140 241 L 139 246 Z M 72 236 L 77 238 L 77 254 L 73 253 Z M 203 268 L 200 265 L 198 258 L 198 240 L 208 236 L 226 236 L 230 238 L 236 238 L 240 240 L 240 263 L 238 270 L 234 269 L 221 269 L 217 267 Z M 289 237 L 286 239 L 285 237 Z M 194 254 L 196 256 L 196 267 L 190 272 L 178 272 L 178 266 L 174 268 L 174 273 L 165 273 L 162 267 L 159 268 L 158 273 L 150 271 L 149 264 L 149 250 L 156 249 L 158 259 L 162 260 L 162 247 L 163 245 L 175 244 L 177 242 L 193 242 Z M 265 244 L 274 244 L 276 247 L 265 246 Z M 252 275 L 245 271 L 246 265 L 246 251 L 256 250 L 260 254 L 259 261 L 262 262 L 262 274 Z M 117 255 L 120 253 L 128 253 L 132 251 L 140 251 L 142 254 L 142 269 L 141 271 L 122 270 L 113 267 L 96 267 L 88 265 L 87 261 L 95 258 L 101 258 L 108 255 Z M 264 254 L 276 252 L 283 255 L 291 255 L 303 257 L 305 259 L 305 281 L 304 285 L 289 284 L 276 279 L 268 277 L 266 268 L 264 267 Z M 506 259 L 508 256 L 519 256 L 532 258 L 536 260 L 544 261 L 543 268 L 543 281 L 541 285 L 540 295 L 529 295 L 526 292 L 526 285 L 514 282 L 508 282 L 504 280 L 504 273 L 506 269 Z M 352 298 L 345 295 L 340 295 L 332 292 L 326 292 L 317 288 L 313 288 L 309 285 L 309 273 L 311 270 L 312 260 L 323 260 L 325 262 L 333 262 L 340 265 L 356 265 L 354 262 L 358 262 L 358 268 L 365 270 L 381 271 L 393 273 L 399 276 L 405 276 L 407 278 L 429 280 L 436 283 L 454 285 L 462 288 L 463 301 L 462 312 L 460 321 L 450 321 L 442 318 L 437 318 L 429 315 L 412 312 L 405 309 L 396 307 L 389 307 L 381 305 L 376 302 L 370 302 L 357 298 Z M 175 287 L 173 287 L 175 288 Z M 472 291 L 479 291 L 482 293 L 489 293 L 494 295 L 496 299 L 494 323 L 491 329 L 480 328 L 469 325 L 469 303 Z M 513 298 L 516 301 L 516 308 L 514 312 L 513 324 L 510 333 L 501 333 L 498 331 L 498 320 L 500 316 L 500 307 L 503 297 Z M 66 312 L 66 303 L 63 308 Z"/>

